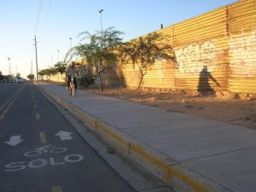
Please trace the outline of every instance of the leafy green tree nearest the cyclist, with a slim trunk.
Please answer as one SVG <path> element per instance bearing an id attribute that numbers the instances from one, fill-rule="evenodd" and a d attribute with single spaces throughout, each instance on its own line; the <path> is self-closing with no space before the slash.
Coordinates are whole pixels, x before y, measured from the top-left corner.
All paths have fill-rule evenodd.
<path id="1" fill-rule="evenodd" d="M 79 44 L 73 48 L 74 55 L 85 57 L 88 65 L 96 68 L 96 74 L 100 80 L 102 90 L 102 73 L 107 67 L 111 67 L 115 63 L 116 54 L 113 49 L 118 44 L 121 44 L 122 38 L 119 36 L 122 34 L 123 32 L 116 31 L 113 27 L 95 34 L 80 32 L 78 36 L 82 37 L 80 41 L 87 39 L 88 43 Z"/>

